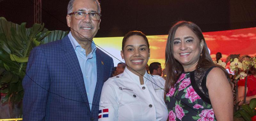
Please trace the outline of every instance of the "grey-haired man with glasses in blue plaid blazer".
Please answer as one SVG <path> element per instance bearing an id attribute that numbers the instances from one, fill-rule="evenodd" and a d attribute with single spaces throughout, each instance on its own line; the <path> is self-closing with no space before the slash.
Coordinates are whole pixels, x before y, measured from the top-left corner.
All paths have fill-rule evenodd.
<path id="1" fill-rule="evenodd" d="M 98 120 L 101 89 L 114 66 L 92 41 L 100 25 L 98 0 L 70 0 L 67 23 L 68 36 L 30 52 L 24 121 Z"/>

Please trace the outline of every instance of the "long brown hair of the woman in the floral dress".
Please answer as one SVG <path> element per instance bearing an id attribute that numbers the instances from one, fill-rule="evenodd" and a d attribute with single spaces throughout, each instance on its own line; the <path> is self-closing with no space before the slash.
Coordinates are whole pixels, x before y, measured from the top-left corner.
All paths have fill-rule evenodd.
<path id="1" fill-rule="evenodd" d="M 180 62 L 178 60 L 176 60 L 173 56 L 174 35 L 175 35 L 176 30 L 182 26 L 187 26 L 189 29 L 191 29 L 196 34 L 196 36 L 198 37 L 200 42 L 204 41 L 202 56 L 200 56 L 200 58 L 198 60 L 196 69 L 210 68 L 212 66 L 218 66 L 225 72 L 226 75 L 228 75 L 228 72 L 225 70 L 225 68 L 213 63 L 201 29 L 196 24 L 194 24 L 192 22 L 179 21 L 171 27 L 171 29 L 169 31 L 168 39 L 166 42 L 165 68 L 166 68 L 167 76 L 166 76 L 164 90 L 169 91 L 169 89 L 177 82 L 181 73 L 184 71 Z M 166 93 L 167 92 L 165 92 L 165 94 L 164 94 L 164 99 L 166 98 Z"/>

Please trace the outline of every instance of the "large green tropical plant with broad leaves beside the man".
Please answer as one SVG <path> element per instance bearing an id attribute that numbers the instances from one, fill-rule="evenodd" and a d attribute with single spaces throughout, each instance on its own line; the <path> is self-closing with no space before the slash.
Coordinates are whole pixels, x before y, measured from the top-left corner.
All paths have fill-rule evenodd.
<path id="1" fill-rule="evenodd" d="M 23 97 L 22 79 L 31 49 L 40 44 L 62 39 L 67 31 L 48 31 L 44 24 L 26 28 L 26 23 L 14 24 L 1 17 L 0 25 L 0 93 L 7 94 L 2 102 L 20 103 Z"/>

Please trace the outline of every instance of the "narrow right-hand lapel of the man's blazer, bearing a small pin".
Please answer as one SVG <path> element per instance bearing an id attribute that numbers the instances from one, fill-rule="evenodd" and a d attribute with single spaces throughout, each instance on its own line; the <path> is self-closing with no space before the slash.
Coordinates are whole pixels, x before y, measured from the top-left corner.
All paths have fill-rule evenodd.
<path id="1" fill-rule="evenodd" d="M 100 94 L 101 94 L 101 89 L 103 86 L 103 77 L 102 74 L 104 74 L 104 60 L 101 57 L 99 48 L 96 49 L 96 65 L 97 65 L 97 82 L 96 82 L 96 87 L 94 91 L 94 96 L 93 96 L 93 104 L 92 105 L 92 112 L 93 110 L 99 105 L 100 102 Z"/>

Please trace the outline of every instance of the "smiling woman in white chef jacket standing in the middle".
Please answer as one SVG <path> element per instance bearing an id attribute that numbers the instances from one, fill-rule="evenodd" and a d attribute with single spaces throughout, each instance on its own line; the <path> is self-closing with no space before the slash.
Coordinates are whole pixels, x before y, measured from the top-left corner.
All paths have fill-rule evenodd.
<path id="1" fill-rule="evenodd" d="M 99 121 L 166 121 L 165 81 L 146 72 L 149 53 L 145 34 L 132 31 L 124 36 L 121 56 L 127 66 L 104 83 Z"/>

